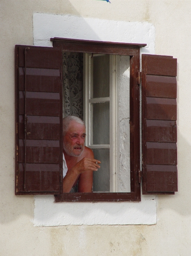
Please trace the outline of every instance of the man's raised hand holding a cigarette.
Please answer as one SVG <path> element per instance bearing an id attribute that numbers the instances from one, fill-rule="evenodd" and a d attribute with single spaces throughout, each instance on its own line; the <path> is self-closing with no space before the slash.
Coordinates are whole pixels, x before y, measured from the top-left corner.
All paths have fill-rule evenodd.
<path id="1" fill-rule="evenodd" d="M 100 163 L 101 162 L 99 160 L 84 157 L 71 169 L 75 169 L 75 171 L 77 171 L 79 175 L 86 171 L 98 171 L 98 168 L 100 168 L 98 164 Z"/>

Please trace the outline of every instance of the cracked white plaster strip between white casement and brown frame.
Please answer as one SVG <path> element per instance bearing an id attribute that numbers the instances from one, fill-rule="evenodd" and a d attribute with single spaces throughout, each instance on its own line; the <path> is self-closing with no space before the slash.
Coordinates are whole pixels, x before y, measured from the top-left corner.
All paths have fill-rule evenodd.
<path id="1" fill-rule="evenodd" d="M 117 56 L 118 168 L 117 192 L 131 192 L 130 179 L 130 57 Z M 125 110 L 125 111 L 124 111 Z"/>

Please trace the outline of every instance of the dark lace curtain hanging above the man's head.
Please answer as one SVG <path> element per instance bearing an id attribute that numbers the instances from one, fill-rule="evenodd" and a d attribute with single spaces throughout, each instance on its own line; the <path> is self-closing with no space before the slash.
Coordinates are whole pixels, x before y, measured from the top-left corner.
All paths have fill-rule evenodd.
<path id="1" fill-rule="evenodd" d="M 63 117 L 83 120 L 83 53 L 63 52 Z"/>

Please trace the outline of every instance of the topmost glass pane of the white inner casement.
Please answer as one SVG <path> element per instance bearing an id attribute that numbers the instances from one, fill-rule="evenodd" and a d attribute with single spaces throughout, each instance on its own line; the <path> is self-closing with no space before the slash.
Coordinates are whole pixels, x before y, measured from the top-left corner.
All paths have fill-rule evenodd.
<path id="1" fill-rule="evenodd" d="M 110 96 L 110 55 L 93 56 L 93 98 Z"/>

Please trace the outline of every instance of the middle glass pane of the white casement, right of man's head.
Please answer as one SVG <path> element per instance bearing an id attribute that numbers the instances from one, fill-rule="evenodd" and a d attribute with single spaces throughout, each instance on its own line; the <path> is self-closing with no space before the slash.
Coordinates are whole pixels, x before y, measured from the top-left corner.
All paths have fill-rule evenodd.
<path id="1" fill-rule="evenodd" d="M 110 144 L 110 102 L 93 103 L 93 145 Z"/>

